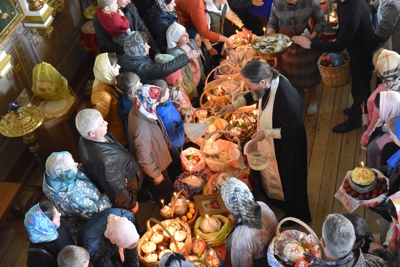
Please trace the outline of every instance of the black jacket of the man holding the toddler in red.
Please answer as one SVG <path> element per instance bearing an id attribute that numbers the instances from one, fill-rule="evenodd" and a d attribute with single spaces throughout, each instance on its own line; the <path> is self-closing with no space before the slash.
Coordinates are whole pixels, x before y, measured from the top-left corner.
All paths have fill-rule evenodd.
<path id="1" fill-rule="evenodd" d="M 150 52 L 154 55 L 159 54 L 160 49 L 158 48 L 156 41 L 154 41 L 146 25 L 144 25 L 143 20 L 140 18 L 136 6 L 132 3 L 128 3 L 124 8 L 121 8 L 121 10 L 129 21 L 130 30 L 135 32 L 146 32 L 147 38 L 149 39 L 148 44 L 150 45 Z M 124 54 L 124 47 L 112 40 L 111 36 L 101 26 L 96 13 L 94 13 L 93 16 L 93 26 L 96 32 L 97 40 L 100 44 L 100 48 L 102 49 L 102 53 L 115 52 L 117 55 Z"/>

